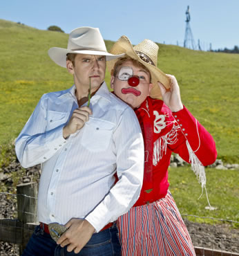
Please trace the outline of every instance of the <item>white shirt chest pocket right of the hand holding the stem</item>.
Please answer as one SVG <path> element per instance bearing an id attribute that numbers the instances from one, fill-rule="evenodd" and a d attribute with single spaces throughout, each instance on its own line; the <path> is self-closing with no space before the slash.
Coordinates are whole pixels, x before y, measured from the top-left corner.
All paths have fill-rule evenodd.
<path id="1" fill-rule="evenodd" d="M 102 152 L 108 149 L 113 136 L 113 122 L 90 118 L 84 125 L 82 146 L 90 152 Z"/>

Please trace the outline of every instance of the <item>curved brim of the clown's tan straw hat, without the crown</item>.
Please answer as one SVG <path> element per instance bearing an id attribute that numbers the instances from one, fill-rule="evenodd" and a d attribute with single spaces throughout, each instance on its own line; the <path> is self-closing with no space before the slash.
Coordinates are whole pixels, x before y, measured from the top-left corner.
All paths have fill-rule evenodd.
<path id="1" fill-rule="evenodd" d="M 129 57 L 131 57 L 133 60 L 137 60 L 146 68 L 149 69 L 151 72 L 151 82 L 153 84 L 153 88 L 151 89 L 150 96 L 151 98 L 162 98 L 160 87 L 157 84 L 157 81 L 161 82 L 166 89 L 169 89 L 171 87 L 171 80 L 170 78 L 160 70 L 160 68 L 157 68 L 157 66 L 153 66 L 152 64 L 144 62 L 137 53 L 135 53 L 133 46 L 126 36 L 120 37 L 120 39 L 113 45 L 110 51 L 112 54 L 120 55 L 122 53 L 125 53 Z M 115 63 L 117 60 L 111 60 L 107 62 L 107 68 L 108 71 L 111 73 L 112 69 L 115 66 Z"/>

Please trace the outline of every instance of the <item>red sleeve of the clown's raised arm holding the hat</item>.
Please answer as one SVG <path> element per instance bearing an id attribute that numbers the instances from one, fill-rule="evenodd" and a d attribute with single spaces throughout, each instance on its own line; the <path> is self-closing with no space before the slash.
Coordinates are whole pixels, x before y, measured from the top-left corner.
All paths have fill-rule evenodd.
<path id="1" fill-rule="evenodd" d="M 202 165 L 211 165 L 216 161 L 217 151 L 215 141 L 209 132 L 200 125 L 200 122 L 184 107 L 178 112 L 173 112 L 173 117 L 178 124 L 178 140 L 169 147 L 173 152 L 189 163 L 189 143 L 192 152 L 198 157 Z"/>

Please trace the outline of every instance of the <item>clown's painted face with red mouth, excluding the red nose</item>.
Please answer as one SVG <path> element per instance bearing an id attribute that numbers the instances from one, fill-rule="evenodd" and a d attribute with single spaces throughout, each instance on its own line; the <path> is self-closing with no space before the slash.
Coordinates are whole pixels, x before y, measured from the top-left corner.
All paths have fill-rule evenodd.
<path id="1" fill-rule="evenodd" d="M 137 77 L 139 84 L 128 84 L 128 79 Z M 140 66 L 135 66 L 127 60 L 120 67 L 117 75 L 111 77 L 111 88 L 115 95 L 130 105 L 133 109 L 140 107 L 149 95 L 153 84 L 150 83 L 150 74 Z"/>

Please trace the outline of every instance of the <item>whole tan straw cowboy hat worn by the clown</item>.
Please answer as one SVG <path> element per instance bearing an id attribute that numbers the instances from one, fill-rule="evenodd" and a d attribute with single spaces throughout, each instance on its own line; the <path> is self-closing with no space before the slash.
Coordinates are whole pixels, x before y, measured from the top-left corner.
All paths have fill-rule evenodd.
<path id="1" fill-rule="evenodd" d="M 125 35 L 122 35 L 120 39 L 113 45 L 111 48 L 112 54 L 122 54 L 125 53 L 129 57 L 138 62 L 142 63 L 146 68 L 149 69 L 152 77 L 153 88 L 151 89 L 150 96 L 151 98 L 161 98 L 160 87 L 157 84 L 157 81 L 160 81 L 166 89 L 169 89 L 171 86 L 170 78 L 167 77 L 164 72 L 157 68 L 157 51 L 158 46 L 149 39 L 144 39 L 140 44 L 132 46 L 131 41 Z M 107 62 L 108 71 L 112 71 L 117 60 L 111 60 Z"/>

